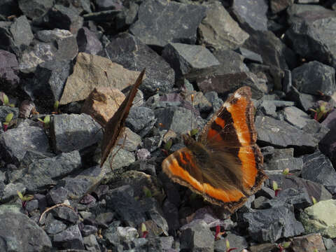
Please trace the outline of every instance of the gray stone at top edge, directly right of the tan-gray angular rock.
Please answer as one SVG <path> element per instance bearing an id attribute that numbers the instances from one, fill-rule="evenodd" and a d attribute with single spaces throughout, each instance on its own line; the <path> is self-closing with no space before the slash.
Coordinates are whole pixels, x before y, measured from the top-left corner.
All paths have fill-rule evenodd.
<path id="1" fill-rule="evenodd" d="M 232 3 L 232 10 L 239 23 L 258 31 L 267 31 L 268 4 L 266 1 L 235 0 Z"/>

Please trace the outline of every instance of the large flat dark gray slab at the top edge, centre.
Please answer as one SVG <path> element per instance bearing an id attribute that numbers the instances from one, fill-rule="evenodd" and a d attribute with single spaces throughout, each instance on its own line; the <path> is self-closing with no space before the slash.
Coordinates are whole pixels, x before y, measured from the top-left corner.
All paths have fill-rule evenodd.
<path id="1" fill-rule="evenodd" d="M 146 0 L 141 3 L 138 20 L 130 31 L 147 45 L 165 46 L 169 42 L 195 44 L 197 27 L 205 12 L 204 6 L 196 4 Z"/>

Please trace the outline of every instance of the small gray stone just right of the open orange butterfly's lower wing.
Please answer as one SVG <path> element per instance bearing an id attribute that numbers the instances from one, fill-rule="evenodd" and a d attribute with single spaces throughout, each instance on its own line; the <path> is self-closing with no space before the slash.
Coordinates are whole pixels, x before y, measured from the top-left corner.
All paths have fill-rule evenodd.
<path id="1" fill-rule="evenodd" d="M 302 158 L 294 158 L 294 149 L 275 149 L 274 155 L 264 164 L 265 170 L 281 170 L 288 168 L 289 171 L 302 170 Z"/>

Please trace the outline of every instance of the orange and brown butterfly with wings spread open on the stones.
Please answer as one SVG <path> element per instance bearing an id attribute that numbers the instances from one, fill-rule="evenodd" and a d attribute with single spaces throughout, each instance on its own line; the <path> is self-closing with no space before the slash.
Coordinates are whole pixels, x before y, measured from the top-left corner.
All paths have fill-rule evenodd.
<path id="1" fill-rule="evenodd" d="M 267 179 L 256 144 L 251 88 L 239 88 L 200 132 L 197 141 L 183 135 L 185 148 L 169 155 L 162 170 L 231 213 L 244 205 Z"/>

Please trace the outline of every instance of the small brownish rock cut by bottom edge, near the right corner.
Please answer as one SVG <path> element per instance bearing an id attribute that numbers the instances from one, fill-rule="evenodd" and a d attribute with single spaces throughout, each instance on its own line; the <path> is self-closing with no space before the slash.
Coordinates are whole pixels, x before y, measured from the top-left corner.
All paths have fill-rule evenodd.
<path id="1" fill-rule="evenodd" d="M 302 237 L 294 237 L 290 243 L 290 248 L 294 252 L 301 251 L 325 251 L 323 240 L 320 234 L 304 235 Z"/>

